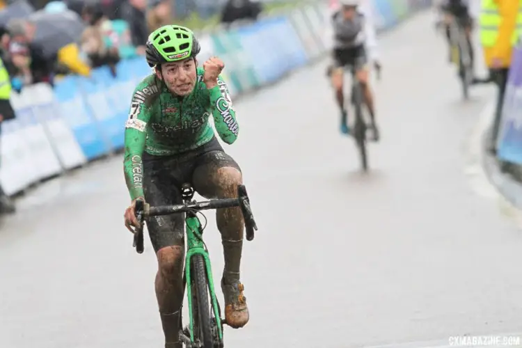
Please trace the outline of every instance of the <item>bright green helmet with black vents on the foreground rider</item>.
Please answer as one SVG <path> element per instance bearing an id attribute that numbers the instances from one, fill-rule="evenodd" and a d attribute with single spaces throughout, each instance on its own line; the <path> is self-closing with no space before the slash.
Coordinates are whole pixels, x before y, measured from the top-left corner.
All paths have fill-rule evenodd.
<path id="1" fill-rule="evenodd" d="M 148 65 L 154 67 L 196 56 L 200 49 L 198 39 L 190 29 L 168 24 L 150 33 L 145 58 Z"/>

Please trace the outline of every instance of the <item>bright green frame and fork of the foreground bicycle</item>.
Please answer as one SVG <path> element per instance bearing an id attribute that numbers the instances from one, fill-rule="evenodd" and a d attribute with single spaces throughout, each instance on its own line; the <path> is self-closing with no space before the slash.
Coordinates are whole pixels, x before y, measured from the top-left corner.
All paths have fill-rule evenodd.
<path id="1" fill-rule="evenodd" d="M 185 277 L 187 279 L 187 296 L 189 299 L 189 326 L 190 326 L 190 340 L 194 342 L 194 321 L 192 312 L 192 283 L 190 274 L 190 262 L 194 255 L 202 255 L 205 260 L 205 270 L 207 271 L 207 283 L 209 286 L 210 301 L 212 303 L 212 311 L 216 319 L 216 326 L 219 335 L 219 340 L 223 340 L 223 330 L 221 328 L 221 316 L 219 313 L 219 306 L 214 290 L 214 279 L 212 278 L 212 267 L 210 265 L 210 258 L 205 244 L 203 244 L 203 229 L 201 222 L 193 212 L 187 213 L 188 217 L 185 219 L 185 235 L 187 235 L 187 255 L 185 256 Z"/>

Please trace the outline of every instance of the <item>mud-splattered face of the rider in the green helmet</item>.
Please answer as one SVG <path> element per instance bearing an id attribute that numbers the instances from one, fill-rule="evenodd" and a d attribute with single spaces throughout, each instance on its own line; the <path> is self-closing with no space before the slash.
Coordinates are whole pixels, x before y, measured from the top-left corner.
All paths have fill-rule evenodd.
<path id="1" fill-rule="evenodd" d="M 196 86 L 196 61 L 187 58 L 183 61 L 165 63 L 161 70 L 156 70 L 157 77 L 165 81 L 165 84 L 175 95 L 189 95 Z"/>

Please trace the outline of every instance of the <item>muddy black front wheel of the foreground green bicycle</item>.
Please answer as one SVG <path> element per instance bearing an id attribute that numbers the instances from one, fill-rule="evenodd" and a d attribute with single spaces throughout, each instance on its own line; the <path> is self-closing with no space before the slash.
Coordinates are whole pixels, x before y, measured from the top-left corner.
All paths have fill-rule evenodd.
<path id="1" fill-rule="evenodd" d="M 207 273 L 205 259 L 203 255 L 193 255 L 192 257 L 192 276 L 193 286 L 196 288 L 196 307 L 198 315 L 198 328 L 194 333 L 194 338 L 203 342 L 204 348 L 214 347 L 212 340 L 212 319 L 210 317 L 210 305 L 207 286 Z"/>

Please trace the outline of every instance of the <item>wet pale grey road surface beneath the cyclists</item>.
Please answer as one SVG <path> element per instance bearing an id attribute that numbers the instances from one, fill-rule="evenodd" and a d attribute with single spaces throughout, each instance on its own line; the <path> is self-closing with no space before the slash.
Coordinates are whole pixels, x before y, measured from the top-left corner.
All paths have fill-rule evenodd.
<path id="1" fill-rule="evenodd" d="M 522 235 L 465 174 L 491 88 L 462 102 L 433 16 L 381 38 L 372 172 L 320 63 L 237 102 L 237 159 L 260 231 L 245 242 L 251 322 L 226 347 L 360 347 L 522 331 Z M 292 101 L 293 100 L 293 101 Z M 484 183 L 485 185 L 485 183 Z M 0 232 L 0 347 L 162 347 L 156 262 L 122 226 L 120 157 L 19 200 Z M 223 265 L 209 217 L 214 274 Z M 221 298 L 221 297 L 220 297 Z M 416 343 L 413 347 L 423 347 Z"/>

